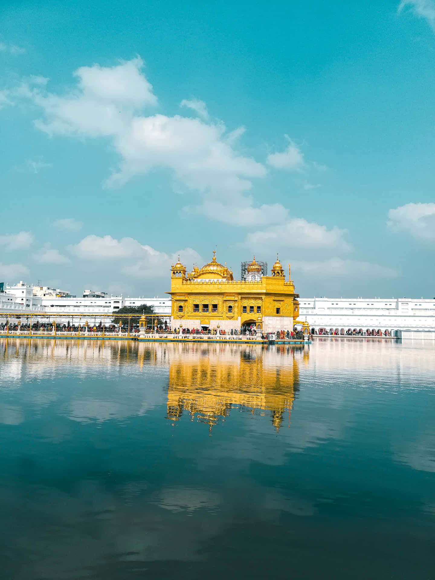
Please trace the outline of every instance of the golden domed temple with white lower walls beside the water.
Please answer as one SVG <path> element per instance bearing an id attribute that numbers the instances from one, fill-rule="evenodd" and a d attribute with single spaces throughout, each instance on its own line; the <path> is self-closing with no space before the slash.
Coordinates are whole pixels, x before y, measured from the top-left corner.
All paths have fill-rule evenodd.
<path id="1" fill-rule="evenodd" d="M 178 262 L 171 269 L 172 328 L 219 328 L 225 331 L 255 325 L 263 332 L 292 330 L 299 315 L 299 294 L 277 258 L 270 276 L 252 260 L 247 280 L 233 278 L 231 269 L 213 259 L 186 272 Z"/>

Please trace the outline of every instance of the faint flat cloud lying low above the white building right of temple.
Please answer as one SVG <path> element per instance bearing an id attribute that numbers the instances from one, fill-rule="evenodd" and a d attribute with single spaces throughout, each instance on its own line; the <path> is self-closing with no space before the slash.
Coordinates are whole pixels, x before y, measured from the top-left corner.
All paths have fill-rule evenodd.
<path id="1" fill-rule="evenodd" d="M 292 262 L 292 276 L 293 273 L 296 273 L 296 276 L 321 276 L 322 278 L 361 278 L 361 276 L 395 278 L 399 274 L 397 270 L 379 266 L 379 264 L 341 258 L 331 258 L 324 262 L 298 262 L 296 260 Z"/>

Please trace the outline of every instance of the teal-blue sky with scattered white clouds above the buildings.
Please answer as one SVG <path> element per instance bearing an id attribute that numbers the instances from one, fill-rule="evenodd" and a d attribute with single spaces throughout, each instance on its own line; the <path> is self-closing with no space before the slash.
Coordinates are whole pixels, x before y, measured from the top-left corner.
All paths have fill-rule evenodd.
<path id="1" fill-rule="evenodd" d="M 161 295 L 217 247 L 305 296 L 435 295 L 432 0 L 0 21 L 0 281 Z"/>

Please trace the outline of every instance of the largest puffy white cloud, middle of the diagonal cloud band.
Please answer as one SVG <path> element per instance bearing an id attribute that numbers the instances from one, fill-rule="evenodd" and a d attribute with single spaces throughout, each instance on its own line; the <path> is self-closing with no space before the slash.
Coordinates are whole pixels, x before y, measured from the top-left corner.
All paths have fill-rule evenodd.
<path id="1" fill-rule="evenodd" d="M 224 136 L 222 124 L 205 124 L 200 119 L 160 114 L 136 117 L 115 140 L 123 161 L 108 184 L 125 183 L 133 175 L 160 166 L 172 169 L 177 179 L 201 191 L 248 190 L 247 178 L 263 177 L 266 169 L 239 155 Z"/>

